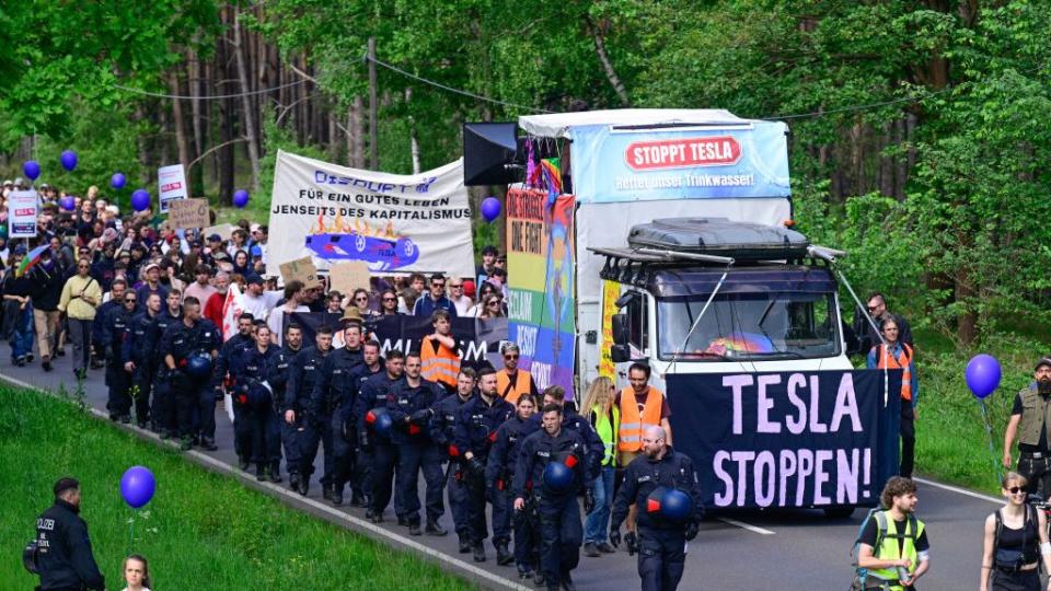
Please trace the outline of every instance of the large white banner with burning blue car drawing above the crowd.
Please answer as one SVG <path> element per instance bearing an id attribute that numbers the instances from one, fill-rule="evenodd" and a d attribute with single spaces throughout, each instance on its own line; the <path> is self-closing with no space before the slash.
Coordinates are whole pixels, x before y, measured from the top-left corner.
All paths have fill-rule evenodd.
<path id="1" fill-rule="evenodd" d="M 359 171 L 278 152 L 266 268 L 312 256 L 319 270 L 474 274 L 463 160 L 421 174 Z"/>

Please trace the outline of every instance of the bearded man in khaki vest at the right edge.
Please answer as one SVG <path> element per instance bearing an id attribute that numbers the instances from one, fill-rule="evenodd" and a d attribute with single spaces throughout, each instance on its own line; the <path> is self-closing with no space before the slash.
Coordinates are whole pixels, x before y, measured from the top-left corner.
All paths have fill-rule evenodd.
<path id="1" fill-rule="evenodd" d="M 1051 422 L 1051 355 L 1041 357 L 1033 369 L 1036 379 L 1015 396 L 1004 432 L 1004 467 L 1010 467 L 1010 445 L 1018 434 L 1018 473 L 1029 480 L 1029 491 L 1044 498 L 1051 493 L 1051 445 L 1048 422 Z"/>

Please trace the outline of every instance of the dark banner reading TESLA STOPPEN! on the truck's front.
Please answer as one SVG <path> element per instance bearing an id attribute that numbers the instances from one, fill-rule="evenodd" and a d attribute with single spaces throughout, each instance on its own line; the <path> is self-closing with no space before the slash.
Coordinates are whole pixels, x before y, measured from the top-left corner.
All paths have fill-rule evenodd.
<path id="1" fill-rule="evenodd" d="M 898 473 L 901 370 L 889 373 L 670 374 L 675 449 L 708 507 L 875 506 Z"/>

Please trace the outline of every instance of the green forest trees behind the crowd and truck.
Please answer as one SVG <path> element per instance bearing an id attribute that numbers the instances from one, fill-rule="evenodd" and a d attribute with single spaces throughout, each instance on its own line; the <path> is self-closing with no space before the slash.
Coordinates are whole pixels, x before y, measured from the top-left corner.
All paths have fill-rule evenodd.
<path id="1" fill-rule="evenodd" d="M 13 2 L 0 26 L 8 176 L 73 148 L 48 182 L 182 162 L 196 195 L 265 202 L 278 148 L 408 173 L 464 121 L 726 108 L 789 125 L 796 218 L 857 285 L 958 345 L 1047 316 L 1049 2 Z"/>

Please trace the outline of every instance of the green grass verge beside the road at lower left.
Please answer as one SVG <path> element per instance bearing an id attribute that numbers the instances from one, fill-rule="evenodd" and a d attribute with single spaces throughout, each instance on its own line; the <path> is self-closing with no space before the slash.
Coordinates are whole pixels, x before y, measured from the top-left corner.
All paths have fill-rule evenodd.
<path id="1" fill-rule="evenodd" d="M 0 560 L 2 589 L 38 581 L 13 557 L 35 533 L 62 475 L 81 482 L 100 568 L 120 589 L 120 561 L 135 513 L 120 498 L 120 475 L 149 467 L 157 493 L 135 513 L 131 552 L 150 560 L 161 589 L 469 589 L 463 580 L 407 554 L 294 511 L 209 473 L 178 453 L 88 417 L 77 404 L 0 386 Z"/>

